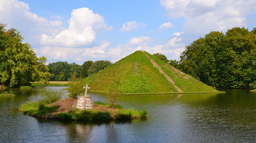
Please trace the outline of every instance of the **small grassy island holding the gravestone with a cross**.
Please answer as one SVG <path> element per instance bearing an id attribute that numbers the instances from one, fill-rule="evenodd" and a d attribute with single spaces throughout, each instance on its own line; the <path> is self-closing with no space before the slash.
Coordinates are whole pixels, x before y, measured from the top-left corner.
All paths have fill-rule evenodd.
<path id="1" fill-rule="evenodd" d="M 20 106 L 19 110 L 36 118 L 59 120 L 130 120 L 147 117 L 148 112 L 145 110 L 124 109 L 114 102 L 104 103 L 90 100 L 86 102 L 88 104 L 84 103 L 83 107 L 81 101 L 86 101 L 84 100 L 85 97 L 91 99 L 91 97 L 86 95 L 87 88 L 90 87 L 86 85 L 85 96 L 81 96 L 78 99 L 61 99 L 60 91 L 45 90 L 43 92 L 43 99 L 40 99 L 38 102 L 27 101 Z M 90 108 L 87 108 L 88 106 Z"/>

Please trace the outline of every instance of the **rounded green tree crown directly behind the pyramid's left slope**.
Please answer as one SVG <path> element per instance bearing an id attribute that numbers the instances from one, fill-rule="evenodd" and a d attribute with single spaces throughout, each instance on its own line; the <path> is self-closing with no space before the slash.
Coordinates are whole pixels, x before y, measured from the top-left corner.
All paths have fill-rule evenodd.
<path id="1" fill-rule="evenodd" d="M 98 60 L 95 61 L 92 66 L 88 69 L 88 75 L 92 75 L 95 74 L 97 72 L 99 72 L 100 70 L 105 69 L 106 67 L 108 67 L 109 65 L 111 65 L 112 63 L 109 60 Z"/>

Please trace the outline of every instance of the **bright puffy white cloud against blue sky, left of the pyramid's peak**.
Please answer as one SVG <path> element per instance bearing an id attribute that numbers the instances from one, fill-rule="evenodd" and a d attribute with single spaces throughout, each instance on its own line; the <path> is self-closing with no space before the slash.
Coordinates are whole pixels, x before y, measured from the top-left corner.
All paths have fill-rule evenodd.
<path id="1" fill-rule="evenodd" d="M 95 29 L 109 29 L 104 18 L 88 8 L 76 9 L 71 13 L 67 29 L 53 36 L 42 34 L 40 43 L 66 47 L 88 45 L 96 39 Z"/>

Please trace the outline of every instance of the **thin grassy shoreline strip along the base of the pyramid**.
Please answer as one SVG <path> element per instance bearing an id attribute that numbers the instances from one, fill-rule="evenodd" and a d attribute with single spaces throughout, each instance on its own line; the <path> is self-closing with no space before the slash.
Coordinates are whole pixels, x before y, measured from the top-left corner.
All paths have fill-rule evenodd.
<path id="1" fill-rule="evenodd" d="M 107 93 L 106 91 L 90 90 L 89 92 Z M 225 91 L 216 92 L 155 92 L 155 93 L 120 93 L 121 95 L 161 95 L 161 94 L 208 94 L 208 93 L 226 93 Z"/>

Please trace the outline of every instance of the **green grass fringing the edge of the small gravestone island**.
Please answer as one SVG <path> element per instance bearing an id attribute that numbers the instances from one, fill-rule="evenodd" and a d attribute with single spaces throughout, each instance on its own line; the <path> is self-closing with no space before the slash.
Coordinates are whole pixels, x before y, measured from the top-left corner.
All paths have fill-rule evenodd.
<path id="1" fill-rule="evenodd" d="M 72 109 L 69 112 L 56 112 L 57 107 L 49 107 L 45 104 L 42 108 L 39 108 L 38 103 L 26 102 L 19 108 L 24 114 L 38 117 L 38 118 L 49 118 L 49 119 L 60 119 L 60 120 L 130 120 L 133 118 L 147 117 L 147 111 L 138 111 L 135 109 L 123 109 L 120 105 L 115 105 L 115 110 L 110 109 L 110 105 L 104 102 L 94 102 L 96 106 L 102 106 L 106 111 L 100 111 L 99 109 L 93 108 L 90 110 L 78 110 Z M 39 110 L 40 109 L 40 110 Z M 49 114 L 54 113 L 54 114 Z"/>

